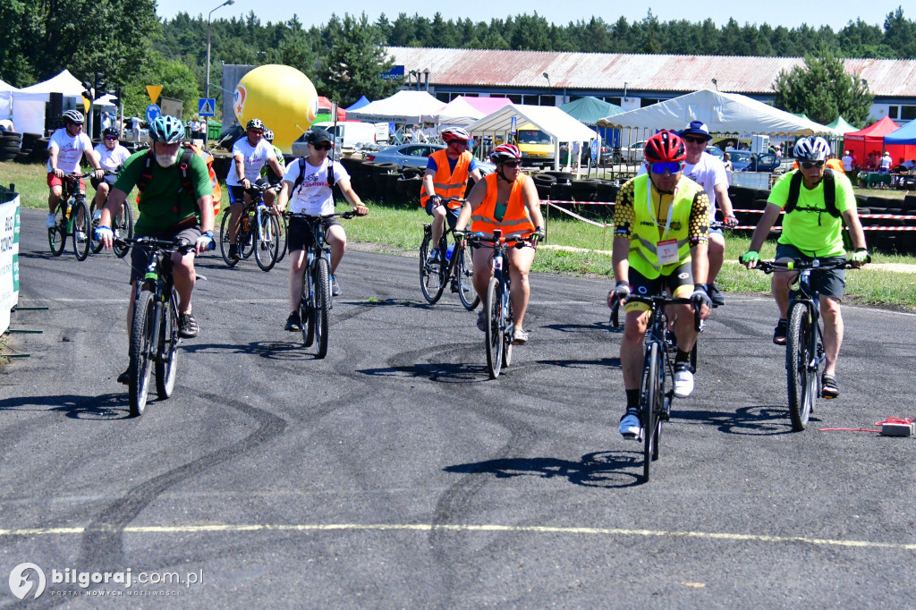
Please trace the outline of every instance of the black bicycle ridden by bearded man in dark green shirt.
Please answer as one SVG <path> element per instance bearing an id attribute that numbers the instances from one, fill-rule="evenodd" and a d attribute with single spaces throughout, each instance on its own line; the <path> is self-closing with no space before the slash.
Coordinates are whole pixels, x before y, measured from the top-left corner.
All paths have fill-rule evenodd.
<path id="1" fill-rule="evenodd" d="M 143 415 L 147 406 L 149 377 L 156 370 L 158 398 L 169 398 L 178 372 L 178 291 L 172 277 L 171 255 L 187 254 L 193 244 L 153 237 L 116 239 L 150 252 L 142 280 L 136 282 L 134 316 L 130 330 L 130 365 L 127 369 L 130 414 Z"/>

